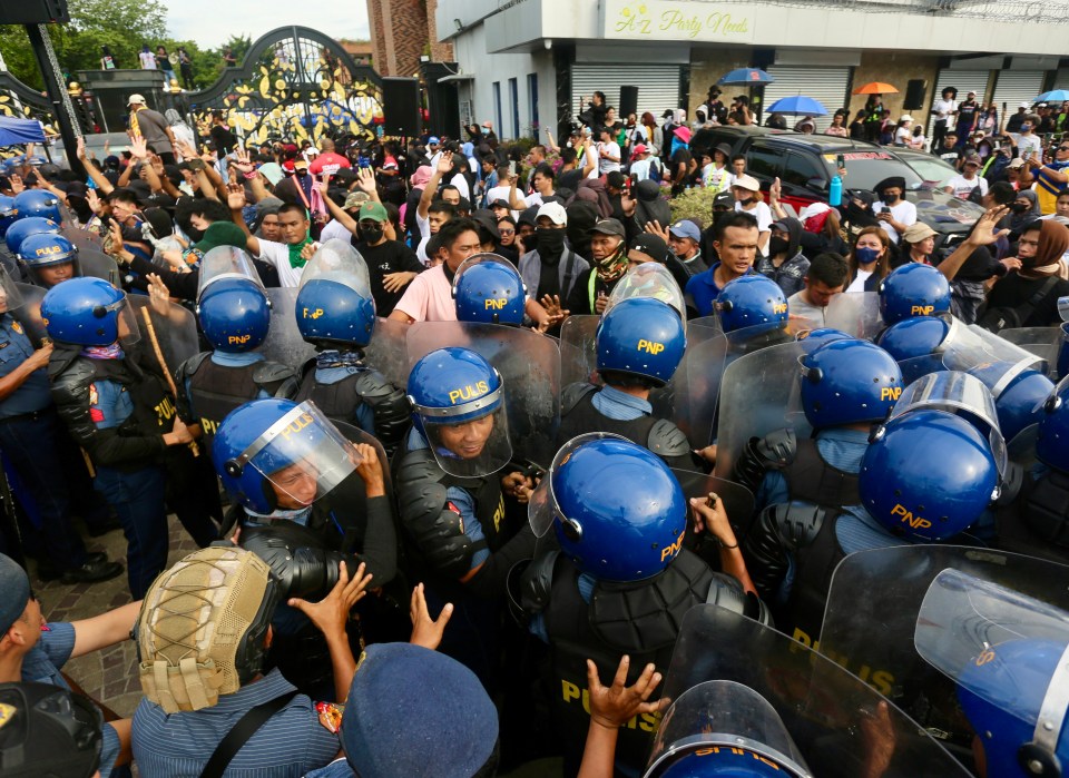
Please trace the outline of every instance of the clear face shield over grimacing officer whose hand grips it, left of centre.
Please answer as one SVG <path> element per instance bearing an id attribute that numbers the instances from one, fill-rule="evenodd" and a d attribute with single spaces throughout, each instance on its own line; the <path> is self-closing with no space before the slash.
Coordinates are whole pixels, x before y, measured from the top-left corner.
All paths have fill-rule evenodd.
<path id="1" fill-rule="evenodd" d="M 272 424 L 241 455 L 225 463 L 241 477 L 253 467 L 286 510 L 307 508 L 330 493 L 360 464 L 355 447 L 311 402 L 304 402 Z"/>

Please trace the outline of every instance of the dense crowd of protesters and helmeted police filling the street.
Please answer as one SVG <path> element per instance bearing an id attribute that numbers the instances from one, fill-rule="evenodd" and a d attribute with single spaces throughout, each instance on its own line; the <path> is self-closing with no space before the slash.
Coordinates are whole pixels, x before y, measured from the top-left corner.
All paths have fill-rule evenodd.
<path id="1" fill-rule="evenodd" d="M 190 139 L 134 95 L 121 155 L 0 177 L 4 774 L 668 775 L 695 754 L 646 772 L 692 609 L 801 651 L 855 552 L 1065 563 L 1069 145 L 1033 148 L 1024 114 L 981 170 L 979 109 L 944 106 L 950 194 L 984 213 L 942 246 L 900 177 L 851 189 L 847 163 L 842 203 L 795 211 L 745 156 L 695 147 L 752 120 L 718 98 L 692 127 L 596 93 L 523 147 L 489 121 L 245 145 L 223 114 Z M 690 188 L 716 189 L 708 217 L 674 220 Z M 171 567 L 169 514 L 199 546 Z M 125 564 L 72 515 L 121 529 Z M 124 572 L 131 602 L 72 623 L 32 589 Z M 129 638 L 145 697 L 104 722 L 61 669 Z M 981 766 L 1016 765 L 1031 729 L 984 717 L 1016 667 L 1061 681 L 1006 656 L 954 679 L 1001 693 L 964 715 L 895 699 L 961 761 L 975 739 Z M 833 759 L 792 729 L 797 758 L 920 775 L 928 736 L 880 705 Z M 1069 735 L 1028 746 L 1069 758 Z"/>

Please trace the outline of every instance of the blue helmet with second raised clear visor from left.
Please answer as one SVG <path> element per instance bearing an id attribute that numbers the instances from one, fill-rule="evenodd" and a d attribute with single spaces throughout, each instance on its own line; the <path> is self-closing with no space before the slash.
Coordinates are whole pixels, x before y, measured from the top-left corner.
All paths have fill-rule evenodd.
<path id="1" fill-rule="evenodd" d="M 297 329 L 308 343 L 363 348 L 375 329 L 367 265 L 345 240 L 320 246 L 301 274 Z"/>

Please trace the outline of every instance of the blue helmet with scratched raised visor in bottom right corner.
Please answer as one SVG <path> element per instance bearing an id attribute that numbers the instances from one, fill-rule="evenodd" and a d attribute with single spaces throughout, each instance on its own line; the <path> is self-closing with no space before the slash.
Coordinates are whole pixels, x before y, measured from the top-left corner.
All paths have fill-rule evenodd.
<path id="1" fill-rule="evenodd" d="M 958 685 L 987 775 L 1063 775 L 1069 613 L 951 568 L 924 593 L 913 642 Z"/>

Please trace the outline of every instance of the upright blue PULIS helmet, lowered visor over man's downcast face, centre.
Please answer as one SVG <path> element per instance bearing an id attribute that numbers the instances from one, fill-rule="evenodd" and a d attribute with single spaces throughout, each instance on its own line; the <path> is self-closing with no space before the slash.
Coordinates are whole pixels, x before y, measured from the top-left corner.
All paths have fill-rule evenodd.
<path id="1" fill-rule="evenodd" d="M 504 383 L 468 348 L 439 348 L 409 373 L 412 420 L 450 475 L 496 473 L 512 457 Z"/>

